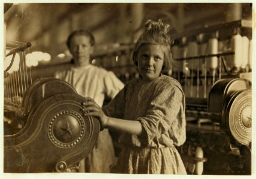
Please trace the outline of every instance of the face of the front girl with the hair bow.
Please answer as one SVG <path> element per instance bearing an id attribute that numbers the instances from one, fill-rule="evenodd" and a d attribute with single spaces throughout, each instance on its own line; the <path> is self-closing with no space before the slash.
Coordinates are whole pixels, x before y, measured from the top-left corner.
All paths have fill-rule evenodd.
<path id="1" fill-rule="evenodd" d="M 138 50 L 137 60 L 139 73 L 145 81 L 159 77 L 164 61 L 161 45 L 142 45 Z"/>

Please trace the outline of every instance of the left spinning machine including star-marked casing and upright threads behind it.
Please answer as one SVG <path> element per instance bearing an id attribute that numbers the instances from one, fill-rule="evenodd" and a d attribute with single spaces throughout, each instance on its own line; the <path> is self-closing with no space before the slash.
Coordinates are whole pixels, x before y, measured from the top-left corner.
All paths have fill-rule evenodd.
<path id="1" fill-rule="evenodd" d="M 83 116 L 84 98 L 60 79 L 32 81 L 31 43 L 11 48 L 4 70 L 4 172 L 78 171 L 96 143 L 99 121 Z"/>

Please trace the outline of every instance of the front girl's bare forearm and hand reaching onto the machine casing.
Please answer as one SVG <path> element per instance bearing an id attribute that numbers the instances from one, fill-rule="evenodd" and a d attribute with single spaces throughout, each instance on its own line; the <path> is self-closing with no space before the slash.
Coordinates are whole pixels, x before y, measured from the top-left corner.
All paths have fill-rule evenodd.
<path id="1" fill-rule="evenodd" d="M 111 118 L 106 116 L 101 107 L 89 97 L 83 103 L 84 115 L 95 116 L 99 119 L 100 124 L 106 128 L 118 129 L 129 134 L 140 135 L 142 133 L 142 125 L 139 121 L 130 121 L 125 119 Z"/>

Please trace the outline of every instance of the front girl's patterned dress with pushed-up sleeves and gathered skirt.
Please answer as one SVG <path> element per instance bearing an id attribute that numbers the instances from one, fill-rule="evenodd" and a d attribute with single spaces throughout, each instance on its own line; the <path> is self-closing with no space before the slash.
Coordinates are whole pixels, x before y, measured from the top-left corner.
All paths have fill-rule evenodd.
<path id="1" fill-rule="evenodd" d="M 186 174 L 175 146 L 185 142 L 185 97 L 175 79 L 161 75 L 125 85 L 107 106 L 107 116 L 137 120 L 142 134 L 121 133 L 122 150 L 112 172 L 124 174 Z"/>

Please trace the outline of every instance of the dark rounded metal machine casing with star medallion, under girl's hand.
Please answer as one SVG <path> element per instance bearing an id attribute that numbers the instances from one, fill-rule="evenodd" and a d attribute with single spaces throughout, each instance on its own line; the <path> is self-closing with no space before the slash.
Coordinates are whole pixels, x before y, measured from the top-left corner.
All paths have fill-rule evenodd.
<path id="1" fill-rule="evenodd" d="M 100 125 L 83 116 L 83 101 L 64 81 L 35 81 L 23 97 L 24 126 L 4 135 L 4 172 L 67 172 L 85 158 Z"/>

